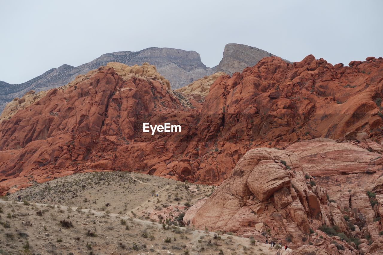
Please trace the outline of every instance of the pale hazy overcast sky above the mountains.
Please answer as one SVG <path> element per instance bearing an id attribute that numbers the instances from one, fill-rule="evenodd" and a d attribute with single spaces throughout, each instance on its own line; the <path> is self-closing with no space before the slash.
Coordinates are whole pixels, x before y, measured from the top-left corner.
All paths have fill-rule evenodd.
<path id="1" fill-rule="evenodd" d="M 227 43 L 290 61 L 383 56 L 383 1 L 1 1 L 0 80 L 22 83 L 101 54 L 172 47 L 207 66 Z"/>

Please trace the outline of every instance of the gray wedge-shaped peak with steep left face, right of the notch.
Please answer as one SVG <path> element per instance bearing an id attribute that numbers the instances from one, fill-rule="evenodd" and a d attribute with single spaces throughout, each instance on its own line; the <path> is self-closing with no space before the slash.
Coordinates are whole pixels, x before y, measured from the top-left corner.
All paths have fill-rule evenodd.
<path id="1" fill-rule="evenodd" d="M 257 64 L 264 57 L 277 57 L 262 49 L 247 46 L 244 44 L 229 43 L 226 44 L 223 51 L 223 57 L 219 64 L 214 67 L 216 72 L 225 72 L 226 74 L 234 74 L 242 72 L 243 69 Z M 285 59 L 284 59 L 285 60 Z M 287 63 L 291 63 L 285 60 Z"/>

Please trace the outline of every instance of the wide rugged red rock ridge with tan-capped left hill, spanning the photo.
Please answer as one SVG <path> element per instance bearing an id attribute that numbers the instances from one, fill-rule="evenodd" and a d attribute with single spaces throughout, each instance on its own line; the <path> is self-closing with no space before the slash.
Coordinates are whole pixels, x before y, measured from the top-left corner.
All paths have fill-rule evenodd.
<path id="1" fill-rule="evenodd" d="M 311 55 L 294 64 L 269 57 L 219 76 L 196 108 L 151 65 L 108 64 L 3 116 L 0 186 L 98 169 L 219 184 L 252 148 L 355 130 L 380 142 L 382 77 L 382 59 L 342 67 Z M 151 136 L 143 122 L 180 124 L 182 131 Z M 380 157 L 376 145 L 365 148 Z"/>

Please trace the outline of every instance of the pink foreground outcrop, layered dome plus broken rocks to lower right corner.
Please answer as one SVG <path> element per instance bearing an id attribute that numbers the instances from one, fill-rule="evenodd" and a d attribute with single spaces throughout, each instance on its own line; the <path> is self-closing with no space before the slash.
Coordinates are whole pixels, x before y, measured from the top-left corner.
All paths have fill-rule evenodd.
<path id="1" fill-rule="evenodd" d="M 374 211 L 383 206 L 380 195 L 372 206 L 365 190 L 347 193 L 347 207 L 329 198 L 293 152 L 252 149 L 209 198 L 187 211 L 183 222 L 275 240 L 297 248 L 292 254 L 381 254 L 383 226 L 380 211 Z"/>

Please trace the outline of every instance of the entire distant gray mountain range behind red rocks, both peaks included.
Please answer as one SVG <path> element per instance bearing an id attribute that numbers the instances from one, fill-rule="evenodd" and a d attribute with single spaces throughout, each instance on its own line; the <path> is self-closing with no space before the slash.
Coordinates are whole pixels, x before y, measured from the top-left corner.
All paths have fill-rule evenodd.
<path id="1" fill-rule="evenodd" d="M 173 48 L 147 48 L 142 51 L 119 51 L 103 54 L 86 64 L 74 67 L 61 65 L 44 74 L 21 84 L 9 84 L 0 81 L 0 113 L 13 98 L 21 97 L 30 90 L 39 92 L 57 88 L 71 82 L 77 75 L 86 74 L 109 62 L 120 62 L 126 65 L 142 65 L 144 62 L 155 65 L 157 71 L 170 81 L 173 89 L 184 87 L 202 77 L 223 70 L 226 73 L 240 72 L 245 67 L 253 66 L 263 57 L 274 56 L 260 49 L 242 45 L 228 44 L 223 52 L 223 59 L 218 66 L 206 67 L 200 54 L 195 51 L 184 51 Z"/>

